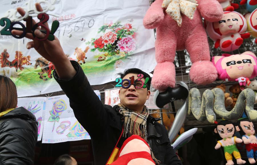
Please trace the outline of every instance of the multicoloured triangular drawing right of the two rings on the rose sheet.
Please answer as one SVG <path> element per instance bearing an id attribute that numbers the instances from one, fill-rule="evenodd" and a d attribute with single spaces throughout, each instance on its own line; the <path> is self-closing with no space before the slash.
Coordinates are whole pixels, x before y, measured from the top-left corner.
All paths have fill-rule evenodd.
<path id="1" fill-rule="evenodd" d="M 69 130 L 71 132 L 69 132 L 69 134 L 67 134 L 66 136 L 71 138 L 71 137 L 79 137 L 79 136 L 88 136 L 89 134 L 87 133 L 87 131 L 81 126 L 81 124 L 76 121 L 70 128 Z"/>

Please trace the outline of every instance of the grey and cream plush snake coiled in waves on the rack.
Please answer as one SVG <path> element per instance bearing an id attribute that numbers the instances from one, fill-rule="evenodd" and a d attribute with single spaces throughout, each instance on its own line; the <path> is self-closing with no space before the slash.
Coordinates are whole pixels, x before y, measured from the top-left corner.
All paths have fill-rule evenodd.
<path id="1" fill-rule="evenodd" d="M 199 121 L 207 119 L 210 123 L 216 121 L 215 113 L 226 120 L 237 120 L 242 116 L 244 106 L 246 106 L 248 118 L 256 122 L 257 111 L 254 110 L 254 101 L 254 91 L 245 89 L 239 94 L 235 107 L 231 111 L 227 111 L 224 105 L 224 92 L 220 88 L 204 91 L 202 101 L 200 91 L 192 88 L 188 95 L 188 114 L 193 114 Z"/>

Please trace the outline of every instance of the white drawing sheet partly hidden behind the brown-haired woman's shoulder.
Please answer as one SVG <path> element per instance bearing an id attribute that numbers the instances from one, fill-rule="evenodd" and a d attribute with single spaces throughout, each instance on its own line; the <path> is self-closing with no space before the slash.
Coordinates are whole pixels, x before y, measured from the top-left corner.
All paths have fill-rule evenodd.
<path id="1" fill-rule="evenodd" d="M 35 97 L 35 98 L 18 98 L 17 107 L 24 107 L 29 110 L 33 115 L 36 116 L 38 122 L 38 134 L 37 141 L 42 138 L 44 122 L 45 122 L 45 108 L 46 108 L 46 97 Z"/>

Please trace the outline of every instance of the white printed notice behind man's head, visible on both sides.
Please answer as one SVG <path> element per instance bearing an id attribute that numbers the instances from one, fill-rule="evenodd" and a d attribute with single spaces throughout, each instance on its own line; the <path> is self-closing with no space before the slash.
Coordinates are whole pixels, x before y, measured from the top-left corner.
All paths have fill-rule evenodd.
<path id="1" fill-rule="evenodd" d="M 112 107 L 119 104 L 119 90 L 119 88 L 105 90 L 105 104 L 110 105 Z M 146 100 L 144 105 L 146 105 L 148 109 L 160 109 L 154 104 L 153 96 L 154 92 L 151 92 L 149 99 Z M 168 109 L 168 104 L 166 104 L 163 108 Z"/>

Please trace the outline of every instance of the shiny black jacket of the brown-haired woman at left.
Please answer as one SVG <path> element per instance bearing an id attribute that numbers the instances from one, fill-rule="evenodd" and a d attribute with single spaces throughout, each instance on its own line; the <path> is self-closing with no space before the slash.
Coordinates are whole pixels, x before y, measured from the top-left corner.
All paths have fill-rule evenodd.
<path id="1" fill-rule="evenodd" d="M 0 117 L 0 165 L 33 165 L 37 120 L 23 107 Z"/>

